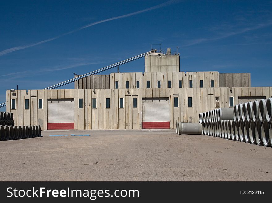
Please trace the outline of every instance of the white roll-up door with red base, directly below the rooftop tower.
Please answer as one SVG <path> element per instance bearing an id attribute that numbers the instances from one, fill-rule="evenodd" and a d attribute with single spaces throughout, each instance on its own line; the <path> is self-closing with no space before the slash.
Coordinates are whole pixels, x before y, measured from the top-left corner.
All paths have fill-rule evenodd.
<path id="1" fill-rule="evenodd" d="M 170 128 L 169 98 L 142 98 L 142 128 Z"/>

